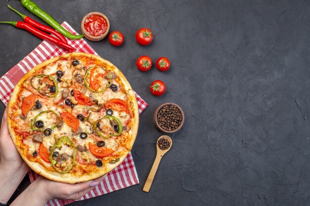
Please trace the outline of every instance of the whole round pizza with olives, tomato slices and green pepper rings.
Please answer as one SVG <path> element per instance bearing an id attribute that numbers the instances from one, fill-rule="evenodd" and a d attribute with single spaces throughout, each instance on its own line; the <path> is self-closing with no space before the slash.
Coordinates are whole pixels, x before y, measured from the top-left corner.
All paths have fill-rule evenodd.
<path id="1" fill-rule="evenodd" d="M 8 127 L 24 161 L 48 179 L 76 183 L 119 165 L 135 141 L 135 93 L 110 62 L 61 55 L 31 69 L 8 105 Z"/>

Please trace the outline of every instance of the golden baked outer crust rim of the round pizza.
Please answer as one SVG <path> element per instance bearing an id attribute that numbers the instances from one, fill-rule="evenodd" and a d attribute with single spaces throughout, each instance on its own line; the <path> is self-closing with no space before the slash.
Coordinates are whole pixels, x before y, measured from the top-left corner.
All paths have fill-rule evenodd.
<path id="1" fill-rule="evenodd" d="M 56 172 L 56 171 L 51 171 L 48 170 L 46 167 L 44 167 L 43 165 L 37 163 L 37 162 L 31 162 L 27 159 L 27 157 L 25 157 L 23 155 L 23 151 L 16 146 L 18 152 L 20 153 L 21 157 L 23 158 L 23 160 L 27 163 L 27 165 L 29 165 L 35 172 L 37 172 L 38 174 L 57 181 L 57 182 L 65 182 L 65 183 L 77 183 L 77 182 L 84 182 L 84 181 L 89 181 L 95 178 L 98 178 L 100 176 L 103 176 L 104 174 L 106 174 L 107 172 L 111 171 L 112 169 L 114 169 L 115 167 L 117 167 L 118 165 L 120 165 L 122 163 L 122 161 L 127 157 L 129 151 L 131 150 L 134 141 L 136 139 L 137 133 L 138 133 L 138 128 L 139 128 L 139 110 L 138 110 L 138 104 L 137 104 L 137 100 L 135 98 L 135 93 L 133 91 L 133 89 L 131 88 L 129 82 L 126 80 L 125 76 L 109 61 L 93 55 L 93 54 L 87 54 L 87 53 L 82 53 L 82 52 L 73 52 L 73 53 L 68 53 L 68 54 L 64 54 L 61 56 L 57 56 L 54 57 L 52 59 L 49 59 L 47 61 L 42 62 L 41 64 L 37 65 L 36 67 L 34 67 L 33 69 L 31 69 L 27 74 L 25 74 L 25 76 L 16 84 L 14 91 L 11 95 L 11 99 L 9 101 L 8 104 L 8 112 L 7 112 L 7 122 L 8 122 L 8 129 L 11 135 L 11 138 L 14 142 L 15 145 L 18 145 L 19 143 L 16 142 L 16 136 L 15 136 L 15 132 L 13 130 L 12 125 L 14 124 L 14 122 L 10 119 L 10 111 L 12 108 L 12 105 L 17 101 L 17 96 L 20 92 L 21 89 L 21 84 L 28 79 L 30 76 L 32 76 L 34 73 L 36 73 L 37 71 L 39 71 L 41 68 L 59 60 L 62 58 L 69 58 L 69 57 L 75 57 L 75 56 L 86 56 L 92 59 L 96 59 L 99 60 L 105 64 L 110 65 L 111 67 L 114 68 L 114 71 L 118 78 L 121 80 L 121 82 L 124 84 L 125 90 L 128 92 L 128 97 L 131 98 L 131 101 L 133 102 L 133 110 L 132 112 L 134 113 L 134 118 L 131 120 L 133 121 L 133 125 L 131 127 L 130 130 L 130 136 L 131 139 L 129 142 L 127 142 L 126 144 L 126 148 L 128 149 L 128 151 L 119 157 L 119 161 L 115 164 L 106 164 L 103 165 L 104 169 L 101 169 L 100 172 L 96 172 L 96 173 L 89 173 L 89 174 L 77 174 L 77 173 L 60 173 L 60 172 Z"/>

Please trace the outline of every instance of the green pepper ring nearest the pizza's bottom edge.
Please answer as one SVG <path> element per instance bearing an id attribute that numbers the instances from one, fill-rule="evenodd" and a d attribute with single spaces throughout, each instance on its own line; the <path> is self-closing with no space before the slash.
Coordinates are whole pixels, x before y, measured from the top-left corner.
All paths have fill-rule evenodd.
<path id="1" fill-rule="evenodd" d="M 60 148 L 60 149 L 61 149 L 61 147 L 62 147 L 61 144 L 67 145 L 67 146 L 72 146 L 72 147 L 74 148 L 72 165 L 69 166 L 69 167 L 67 168 L 67 170 L 65 170 L 65 171 L 62 171 L 62 170 L 60 170 L 60 169 L 57 169 L 57 167 L 55 166 L 56 161 L 53 160 L 53 158 L 52 158 L 52 155 L 53 155 L 53 153 L 54 153 L 54 149 L 55 149 L 55 148 Z M 59 149 L 59 150 L 60 150 L 60 149 Z M 58 141 L 56 142 L 56 144 L 54 144 L 54 146 L 52 146 L 52 151 L 51 151 L 51 154 L 50 154 L 50 162 L 51 162 L 51 164 L 52 164 L 52 167 L 53 167 L 57 172 L 67 173 L 67 172 L 70 171 L 70 170 L 73 168 L 73 166 L 75 165 L 75 156 L 76 156 L 76 146 L 75 146 L 75 144 L 74 144 L 73 142 L 71 142 L 71 140 L 70 140 L 69 137 L 67 137 L 67 136 L 62 136 L 62 137 L 60 137 L 60 138 L 58 139 Z"/>

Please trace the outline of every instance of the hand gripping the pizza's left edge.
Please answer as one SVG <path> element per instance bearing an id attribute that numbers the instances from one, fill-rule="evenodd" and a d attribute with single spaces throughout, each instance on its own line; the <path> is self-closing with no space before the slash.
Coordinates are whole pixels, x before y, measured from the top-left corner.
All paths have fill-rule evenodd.
<path id="1" fill-rule="evenodd" d="M 0 203 L 7 203 L 29 170 L 10 137 L 5 109 L 0 129 Z"/>

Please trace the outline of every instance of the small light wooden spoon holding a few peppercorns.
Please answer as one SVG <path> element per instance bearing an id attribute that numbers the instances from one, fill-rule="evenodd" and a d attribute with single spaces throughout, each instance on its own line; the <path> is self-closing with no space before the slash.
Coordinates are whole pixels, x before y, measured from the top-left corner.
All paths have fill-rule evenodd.
<path id="1" fill-rule="evenodd" d="M 160 138 L 162 138 L 162 137 L 165 138 L 165 139 L 168 139 L 168 141 L 170 142 L 170 147 L 169 147 L 168 149 L 166 149 L 166 150 L 161 150 L 161 149 L 159 149 L 158 144 L 157 144 L 158 140 L 159 140 Z M 145 182 L 145 185 L 144 185 L 144 187 L 143 187 L 143 191 L 144 191 L 144 192 L 149 192 L 149 191 L 150 191 L 150 188 L 151 188 L 152 182 L 153 182 L 153 180 L 154 180 L 155 173 L 156 173 L 156 171 L 157 171 L 159 162 L 160 162 L 162 156 L 163 156 L 166 152 L 168 152 L 168 151 L 170 150 L 171 146 L 172 146 L 172 140 L 171 140 L 171 138 L 168 137 L 167 135 L 162 135 L 162 136 L 160 136 L 160 137 L 157 139 L 157 141 L 156 141 L 157 154 L 156 154 L 156 158 L 155 158 L 154 164 L 153 164 L 153 166 L 152 166 L 152 169 L 151 169 L 151 171 L 150 171 L 150 174 L 149 174 L 149 176 L 148 176 L 148 179 L 147 179 L 147 181 Z"/>

